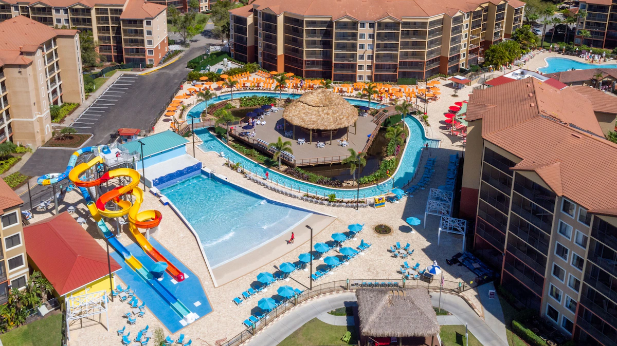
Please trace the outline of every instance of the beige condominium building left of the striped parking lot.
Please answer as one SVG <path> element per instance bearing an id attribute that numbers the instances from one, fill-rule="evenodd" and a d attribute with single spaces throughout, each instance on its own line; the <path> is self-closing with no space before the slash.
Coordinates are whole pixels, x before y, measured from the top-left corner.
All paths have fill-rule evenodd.
<path id="1" fill-rule="evenodd" d="M 0 23 L 0 140 L 39 147 L 52 136 L 49 107 L 84 100 L 77 30 Z"/>

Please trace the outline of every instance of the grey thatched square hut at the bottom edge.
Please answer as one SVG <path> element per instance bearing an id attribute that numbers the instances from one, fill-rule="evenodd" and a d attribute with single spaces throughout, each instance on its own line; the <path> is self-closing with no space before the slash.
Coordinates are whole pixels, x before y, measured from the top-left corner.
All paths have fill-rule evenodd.
<path id="1" fill-rule="evenodd" d="M 360 344 L 434 346 L 439 323 L 426 289 L 358 289 Z"/>

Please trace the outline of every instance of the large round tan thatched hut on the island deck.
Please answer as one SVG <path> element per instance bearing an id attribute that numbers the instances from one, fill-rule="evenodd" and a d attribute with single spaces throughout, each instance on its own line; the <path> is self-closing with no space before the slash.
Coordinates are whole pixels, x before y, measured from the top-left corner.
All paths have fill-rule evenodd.
<path id="1" fill-rule="evenodd" d="M 321 130 L 321 135 L 330 136 L 339 129 L 347 128 L 358 120 L 358 110 L 350 105 L 341 95 L 334 94 L 326 89 L 315 89 L 300 96 L 283 110 L 284 124 L 296 126 L 310 133 L 309 142 L 313 141 L 313 133 Z"/>

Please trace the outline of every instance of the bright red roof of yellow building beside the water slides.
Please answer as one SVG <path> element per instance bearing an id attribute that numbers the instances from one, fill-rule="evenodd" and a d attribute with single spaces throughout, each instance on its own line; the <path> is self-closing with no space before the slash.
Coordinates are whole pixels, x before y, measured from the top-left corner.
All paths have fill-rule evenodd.
<path id="1" fill-rule="evenodd" d="M 60 296 L 108 275 L 107 252 L 67 212 L 23 228 L 28 257 Z M 120 265 L 110 259 L 112 272 Z"/>

